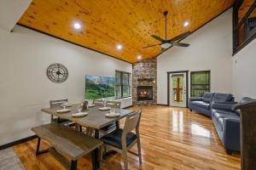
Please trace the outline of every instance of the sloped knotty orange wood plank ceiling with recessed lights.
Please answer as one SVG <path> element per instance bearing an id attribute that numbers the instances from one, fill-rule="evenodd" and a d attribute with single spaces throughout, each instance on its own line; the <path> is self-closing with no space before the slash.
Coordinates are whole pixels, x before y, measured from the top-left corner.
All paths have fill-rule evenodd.
<path id="1" fill-rule="evenodd" d="M 158 43 L 151 34 L 165 37 L 165 10 L 169 11 L 170 39 L 184 31 L 195 31 L 230 8 L 234 1 L 33 0 L 18 23 L 134 63 L 137 55 L 148 59 L 160 54 L 158 46 L 143 47 Z M 183 26 L 185 21 L 189 21 L 189 26 Z M 79 31 L 73 28 L 75 22 L 82 26 Z M 116 48 L 118 44 L 123 46 L 121 50 Z"/>

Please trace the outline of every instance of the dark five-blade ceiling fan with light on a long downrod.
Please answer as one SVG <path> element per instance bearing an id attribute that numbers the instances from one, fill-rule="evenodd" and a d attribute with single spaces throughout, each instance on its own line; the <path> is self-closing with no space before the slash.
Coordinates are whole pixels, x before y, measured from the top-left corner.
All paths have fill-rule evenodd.
<path id="1" fill-rule="evenodd" d="M 166 31 L 167 31 L 167 14 L 168 11 L 164 12 L 164 15 L 166 16 Z M 151 35 L 150 37 L 153 37 L 154 39 L 160 41 L 159 44 L 154 44 L 154 45 L 148 45 L 147 47 L 143 48 L 150 48 L 154 46 L 160 45 L 161 47 L 161 53 L 165 52 L 167 49 L 172 48 L 172 46 L 178 46 L 178 47 L 189 47 L 189 43 L 182 43 L 179 42 L 183 40 L 183 38 L 188 37 L 192 32 L 191 31 L 186 31 L 183 34 L 178 35 L 177 37 L 172 37 L 172 39 L 167 39 L 167 32 L 166 32 L 166 39 L 163 39 L 161 37 L 158 37 L 156 35 Z"/>

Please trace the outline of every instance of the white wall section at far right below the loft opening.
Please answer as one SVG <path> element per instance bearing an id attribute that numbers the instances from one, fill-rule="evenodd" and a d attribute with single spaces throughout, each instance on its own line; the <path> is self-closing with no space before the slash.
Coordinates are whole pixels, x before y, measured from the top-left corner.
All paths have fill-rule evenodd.
<path id="1" fill-rule="evenodd" d="M 256 40 L 233 57 L 233 94 L 256 99 Z"/>

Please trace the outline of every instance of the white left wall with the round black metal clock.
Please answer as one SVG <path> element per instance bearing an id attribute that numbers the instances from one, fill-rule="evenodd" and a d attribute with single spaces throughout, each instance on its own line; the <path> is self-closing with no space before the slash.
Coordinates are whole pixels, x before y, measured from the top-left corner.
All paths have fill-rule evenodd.
<path id="1" fill-rule="evenodd" d="M 46 77 L 55 62 L 67 66 L 66 82 Z M 115 70 L 131 72 L 132 65 L 21 26 L 0 30 L 0 145 L 32 135 L 30 128 L 46 119 L 40 110 L 49 100 L 84 99 L 85 75 L 114 77 Z"/>

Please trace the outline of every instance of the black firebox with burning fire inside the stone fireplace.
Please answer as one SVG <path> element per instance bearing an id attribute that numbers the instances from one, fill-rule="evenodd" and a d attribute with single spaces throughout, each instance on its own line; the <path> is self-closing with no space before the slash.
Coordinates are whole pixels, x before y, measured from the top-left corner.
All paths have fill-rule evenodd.
<path id="1" fill-rule="evenodd" d="M 137 100 L 153 100 L 153 86 L 137 86 Z"/>

